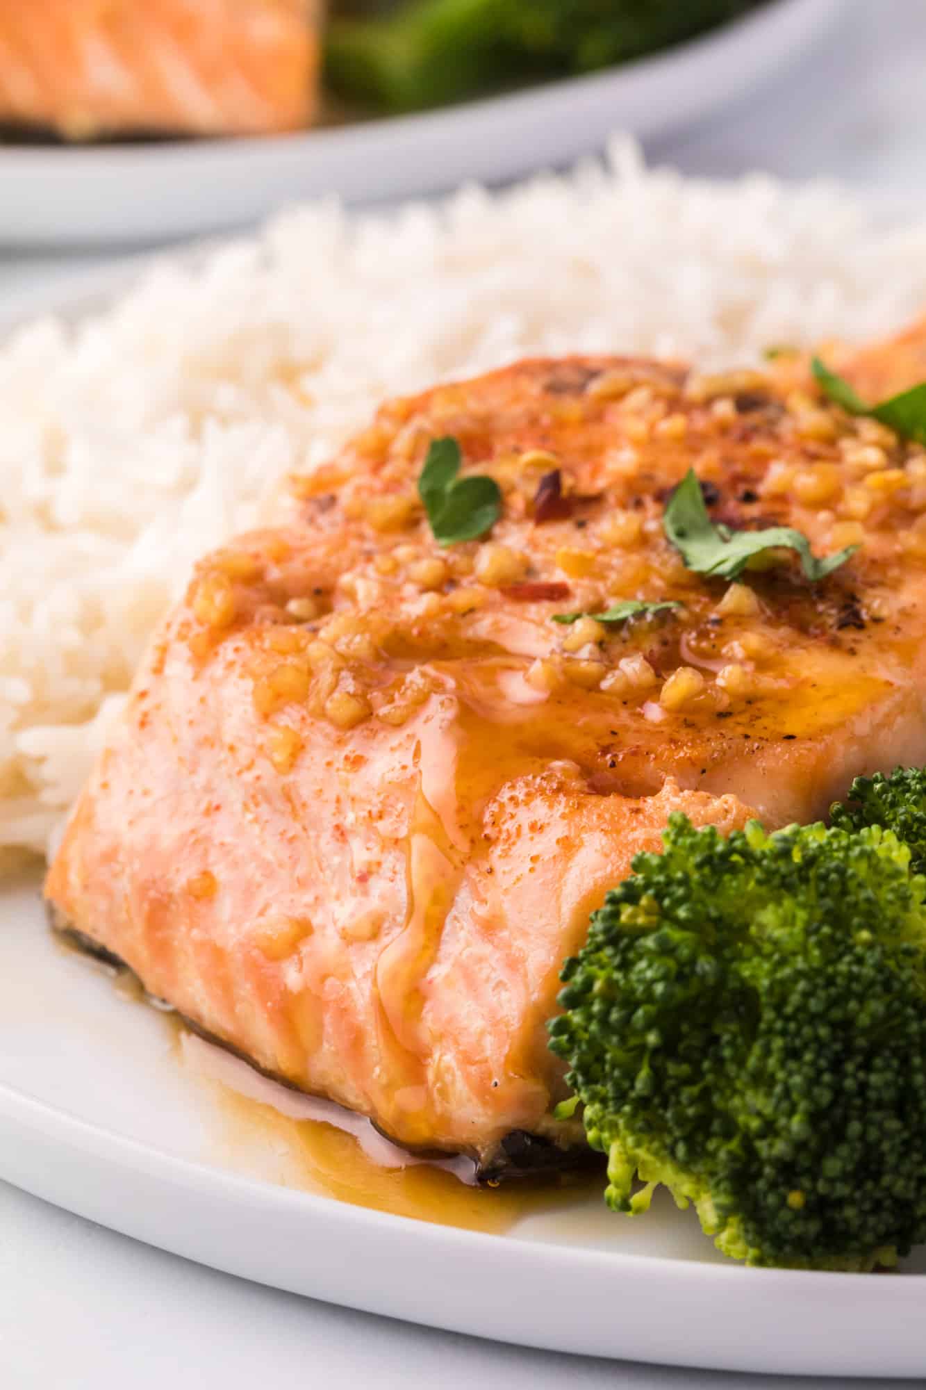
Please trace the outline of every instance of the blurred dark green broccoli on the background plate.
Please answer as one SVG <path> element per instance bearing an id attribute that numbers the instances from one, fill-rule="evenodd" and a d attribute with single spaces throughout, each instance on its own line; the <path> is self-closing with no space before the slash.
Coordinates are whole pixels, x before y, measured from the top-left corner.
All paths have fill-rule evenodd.
<path id="1" fill-rule="evenodd" d="M 405 0 L 342 18 L 325 46 L 328 83 L 388 111 L 460 101 L 545 76 L 587 72 L 679 43 L 759 0 Z"/>

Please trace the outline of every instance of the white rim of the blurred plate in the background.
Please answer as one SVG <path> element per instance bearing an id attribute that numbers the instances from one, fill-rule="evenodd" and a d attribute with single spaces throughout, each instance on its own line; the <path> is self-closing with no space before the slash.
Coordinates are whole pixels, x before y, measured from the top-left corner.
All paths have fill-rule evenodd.
<path id="1" fill-rule="evenodd" d="M 0 145 L 0 245 L 138 242 L 242 225 L 282 202 L 498 182 L 653 138 L 749 93 L 819 39 L 840 0 L 770 0 L 702 39 L 608 72 L 423 115 L 246 140 Z"/>

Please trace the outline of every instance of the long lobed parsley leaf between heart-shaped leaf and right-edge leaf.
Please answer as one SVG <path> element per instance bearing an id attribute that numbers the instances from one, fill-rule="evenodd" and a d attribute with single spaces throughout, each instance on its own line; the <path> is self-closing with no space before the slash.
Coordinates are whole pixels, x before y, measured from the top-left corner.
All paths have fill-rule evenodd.
<path id="1" fill-rule="evenodd" d="M 754 555 L 783 546 L 797 550 L 805 577 L 816 582 L 858 550 L 856 545 L 847 545 L 844 550 L 819 560 L 812 553 L 808 538 L 793 527 L 772 525 L 762 531 L 730 531 L 729 527 L 717 527 L 708 516 L 694 468 L 688 470 L 672 493 L 662 528 L 690 570 L 722 580 L 738 578 Z"/>

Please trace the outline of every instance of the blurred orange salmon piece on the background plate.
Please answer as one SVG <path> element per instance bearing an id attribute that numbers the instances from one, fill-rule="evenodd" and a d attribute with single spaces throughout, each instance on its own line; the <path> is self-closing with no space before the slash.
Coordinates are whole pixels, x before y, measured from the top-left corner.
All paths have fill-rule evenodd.
<path id="1" fill-rule="evenodd" d="M 0 0 L 0 122 L 65 139 L 306 125 L 316 0 Z"/>

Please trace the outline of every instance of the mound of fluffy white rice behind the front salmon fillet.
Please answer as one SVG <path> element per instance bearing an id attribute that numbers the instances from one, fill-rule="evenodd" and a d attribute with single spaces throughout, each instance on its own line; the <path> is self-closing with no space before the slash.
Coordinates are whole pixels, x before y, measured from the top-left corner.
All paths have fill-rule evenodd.
<path id="1" fill-rule="evenodd" d="M 524 353 L 749 363 L 926 304 L 926 222 L 606 167 L 441 207 L 289 211 L 0 348 L 0 853 L 44 852 L 193 559 L 377 402 Z"/>

